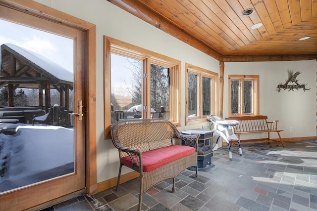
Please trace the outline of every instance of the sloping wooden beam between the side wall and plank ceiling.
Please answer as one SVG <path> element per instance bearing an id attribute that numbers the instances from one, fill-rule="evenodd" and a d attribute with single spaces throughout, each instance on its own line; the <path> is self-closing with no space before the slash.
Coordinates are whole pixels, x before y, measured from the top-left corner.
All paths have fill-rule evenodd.
<path id="1" fill-rule="evenodd" d="M 167 34 L 185 42 L 200 51 L 210 55 L 211 57 L 221 60 L 222 56 L 210 46 L 200 42 L 199 40 L 193 38 L 183 30 L 179 29 L 177 26 L 173 25 L 165 18 L 159 14 L 154 13 L 149 8 L 145 7 L 143 4 L 137 3 L 134 0 L 108 0 L 114 5 L 122 8 L 123 10 L 135 15 L 136 17 L 146 21 L 147 23 L 159 28 L 160 30 L 166 32 Z"/>

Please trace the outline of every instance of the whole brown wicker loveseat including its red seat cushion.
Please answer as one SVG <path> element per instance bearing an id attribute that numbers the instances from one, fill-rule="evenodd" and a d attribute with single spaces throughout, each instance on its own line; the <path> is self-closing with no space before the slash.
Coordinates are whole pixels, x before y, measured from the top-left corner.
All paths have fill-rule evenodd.
<path id="1" fill-rule="evenodd" d="M 168 120 L 131 119 L 122 120 L 111 127 L 111 139 L 119 150 L 120 169 L 122 166 L 140 173 L 139 207 L 142 195 L 168 178 L 173 178 L 172 192 L 175 191 L 175 177 L 184 169 L 197 169 L 197 139 L 199 135 L 184 135 Z M 175 145 L 173 140 L 181 139 L 185 145 Z"/>

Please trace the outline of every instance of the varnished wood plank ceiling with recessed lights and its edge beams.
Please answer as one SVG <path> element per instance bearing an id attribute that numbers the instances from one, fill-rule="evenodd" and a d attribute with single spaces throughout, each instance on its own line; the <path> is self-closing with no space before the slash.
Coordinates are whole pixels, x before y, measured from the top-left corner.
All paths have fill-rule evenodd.
<path id="1" fill-rule="evenodd" d="M 219 61 L 317 59 L 317 0 L 109 1 Z"/>

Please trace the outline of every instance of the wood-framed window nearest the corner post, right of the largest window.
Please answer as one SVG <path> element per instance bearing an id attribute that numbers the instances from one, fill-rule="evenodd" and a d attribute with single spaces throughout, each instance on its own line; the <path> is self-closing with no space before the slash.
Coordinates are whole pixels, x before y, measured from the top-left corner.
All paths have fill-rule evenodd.
<path id="1" fill-rule="evenodd" d="M 185 68 L 186 125 L 205 122 L 217 112 L 218 74 L 190 64 Z"/>

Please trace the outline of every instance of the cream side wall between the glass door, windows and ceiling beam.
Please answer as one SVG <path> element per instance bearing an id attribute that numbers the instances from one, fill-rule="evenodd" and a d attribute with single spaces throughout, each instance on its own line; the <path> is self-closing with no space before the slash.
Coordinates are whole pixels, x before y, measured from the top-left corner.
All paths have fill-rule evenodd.
<path id="1" fill-rule="evenodd" d="M 185 62 L 219 72 L 219 62 L 201 51 L 180 42 L 158 28 L 120 9 L 106 0 L 36 0 L 54 9 L 96 24 L 96 109 L 97 117 L 104 116 L 103 98 L 103 36 L 143 47 L 180 60 L 181 79 L 185 81 Z M 159 42 L 158 42 L 159 41 Z M 185 103 L 185 84 L 182 84 L 182 102 Z M 184 104 L 183 104 L 184 105 Z M 185 106 L 182 105 L 182 114 Z M 181 118 L 182 126 L 185 119 Z M 104 120 L 97 119 L 97 181 L 102 182 L 118 174 L 118 152 L 111 140 L 104 140 Z M 180 130 L 195 128 L 181 127 Z M 201 128 L 201 126 L 199 126 Z M 123 168 L 122 174 L 130 169 Z"/>

